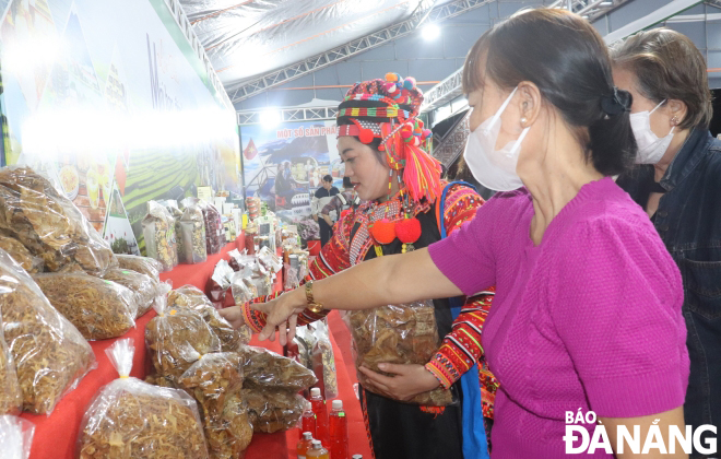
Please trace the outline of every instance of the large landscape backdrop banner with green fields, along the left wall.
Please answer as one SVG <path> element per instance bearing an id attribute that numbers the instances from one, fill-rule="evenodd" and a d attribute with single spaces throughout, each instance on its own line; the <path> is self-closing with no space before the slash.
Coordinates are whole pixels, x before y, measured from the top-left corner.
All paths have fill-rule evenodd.
<path id="1" fill-rule="evenodd" d="M 235 110 L 163 0 L 0 0 L 0 14 L 5 162 L 56 180 L 116 251 L 143 248 L 151 199 L 243 193 Z"/>

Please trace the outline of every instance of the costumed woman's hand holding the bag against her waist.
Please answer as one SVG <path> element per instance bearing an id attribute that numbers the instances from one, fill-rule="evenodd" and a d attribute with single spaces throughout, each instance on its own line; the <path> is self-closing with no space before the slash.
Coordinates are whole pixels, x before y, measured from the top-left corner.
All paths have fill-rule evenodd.
<path id="1" fill-rule="evenodd" d="M 370 381 L 368 389 L 371 392 L 390 399 L 407 401 L 440 386 L 438 379 L 423 365 L 378 364 L 378 368 L 394 376 L 383 376 L 365 366 L 359 369 Z"/>

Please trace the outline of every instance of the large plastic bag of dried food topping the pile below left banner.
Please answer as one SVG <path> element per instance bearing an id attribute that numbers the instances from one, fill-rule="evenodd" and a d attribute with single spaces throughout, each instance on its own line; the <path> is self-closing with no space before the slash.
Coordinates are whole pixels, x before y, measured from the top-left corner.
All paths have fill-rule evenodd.
<path id="1" fill-rule="evenodd" d="M 42 258 L 49 271 L 99 275 L 117 264 L 110 246 L 78 208 L 27 167 L 0 169 L 0 229 Z"/>

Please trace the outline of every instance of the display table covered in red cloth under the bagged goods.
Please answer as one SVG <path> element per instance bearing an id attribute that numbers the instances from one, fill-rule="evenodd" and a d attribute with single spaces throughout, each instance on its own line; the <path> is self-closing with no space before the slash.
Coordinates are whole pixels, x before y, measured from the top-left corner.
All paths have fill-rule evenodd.
<path id="1" fill-rule="evenodd" d="M 243 240 L 243 236 L 239 236 Z M 239 242 L 226 245 L 221 254 L 208 257 L 208 261 L 201 264 L 180 264 L 173 271 L 161 274 L 162 281 L 170 281 L 175 287 L 191 284 L 201 290 L 205 289 L 208 280 L 213 274 L 215 264 L 222 259 L 227 260 L 227 252 L 238 248 L 243 250 L 243 243 Z M 283 287 L 282 276 L 279 275 L 274 289 Z M 329 319 L 330 340 L 335 355 L 335 368 L 338 372 L 339 398 L 343 400 L 343 407 L 348 417 L 348 436 L 351 454 L 361 454 L 364 458 L 370 458 L 370 448 L 368 445 L 366 429 L 363 421 L 361 405 L 355 396 L 353 384 L 355 373 L 350 372 L 353 366 L 352 360 L 346 363 L 344 355 L 350 355 L 348 349 L 341 350 L 333 338 L 336 332 L 345 332 L 339 327 L 344 327 L 340 318 L 333 317 L 338 313 L 332 313 Z M 150 361 L 146 358 L 145 348 L 145 326 L 155 317 L 155 311 L 151 310 L 135 321 L 135 328 L 130 330 L 121 338 L 132 338 L 135 344 L 135 355 L 131 376 L 143 379 L 150 370 Z M 75 443 L 83 415 L 90 402 L 98 393 L 99 389 L 106 384 L 117 379 L 118 374 L 110 364 L 105 350 L 113 345 L 117 339 L 91 341 L 91 346 L 97 360 L 97 368 L 85 376 L 78 388 L 70 391 L 60 400 L 51 415 L 33 415 L 24 413 L 22 417 L 32 421 L 35 424 L 35 437 L 31 459 L 73 459 L 75 456 Z M 253 337 L 251 345 L 259 345 L 283 353 L 277 342 L 259 342 Z M 347 344 L 346 344 L 347 345 Z M 346 346 L 344 345 L 344 346 Z M 329 402 L 330 404 L 330 402 Z M 246 459 L 295 459 L 295 447 L 298 440 L 298 429 L 293 428 L 288 432 L 279 432 L 276 434 L 256 434 L 253 440 L 247 450 Z M 180 459 L 180 458 L 179 458 Z"/>

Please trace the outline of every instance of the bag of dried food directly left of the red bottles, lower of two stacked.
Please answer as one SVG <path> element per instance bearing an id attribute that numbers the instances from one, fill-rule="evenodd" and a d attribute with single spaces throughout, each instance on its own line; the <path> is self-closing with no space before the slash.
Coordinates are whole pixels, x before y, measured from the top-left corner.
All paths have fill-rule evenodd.
<path id="1" fill-rule="evenodd" d="M 306 404 L 306 399 L 292 390 L 268 387 L 244 388 L 243 398 L 248 403 L 253 431 L 264 434 L 295 427 Z"/>

